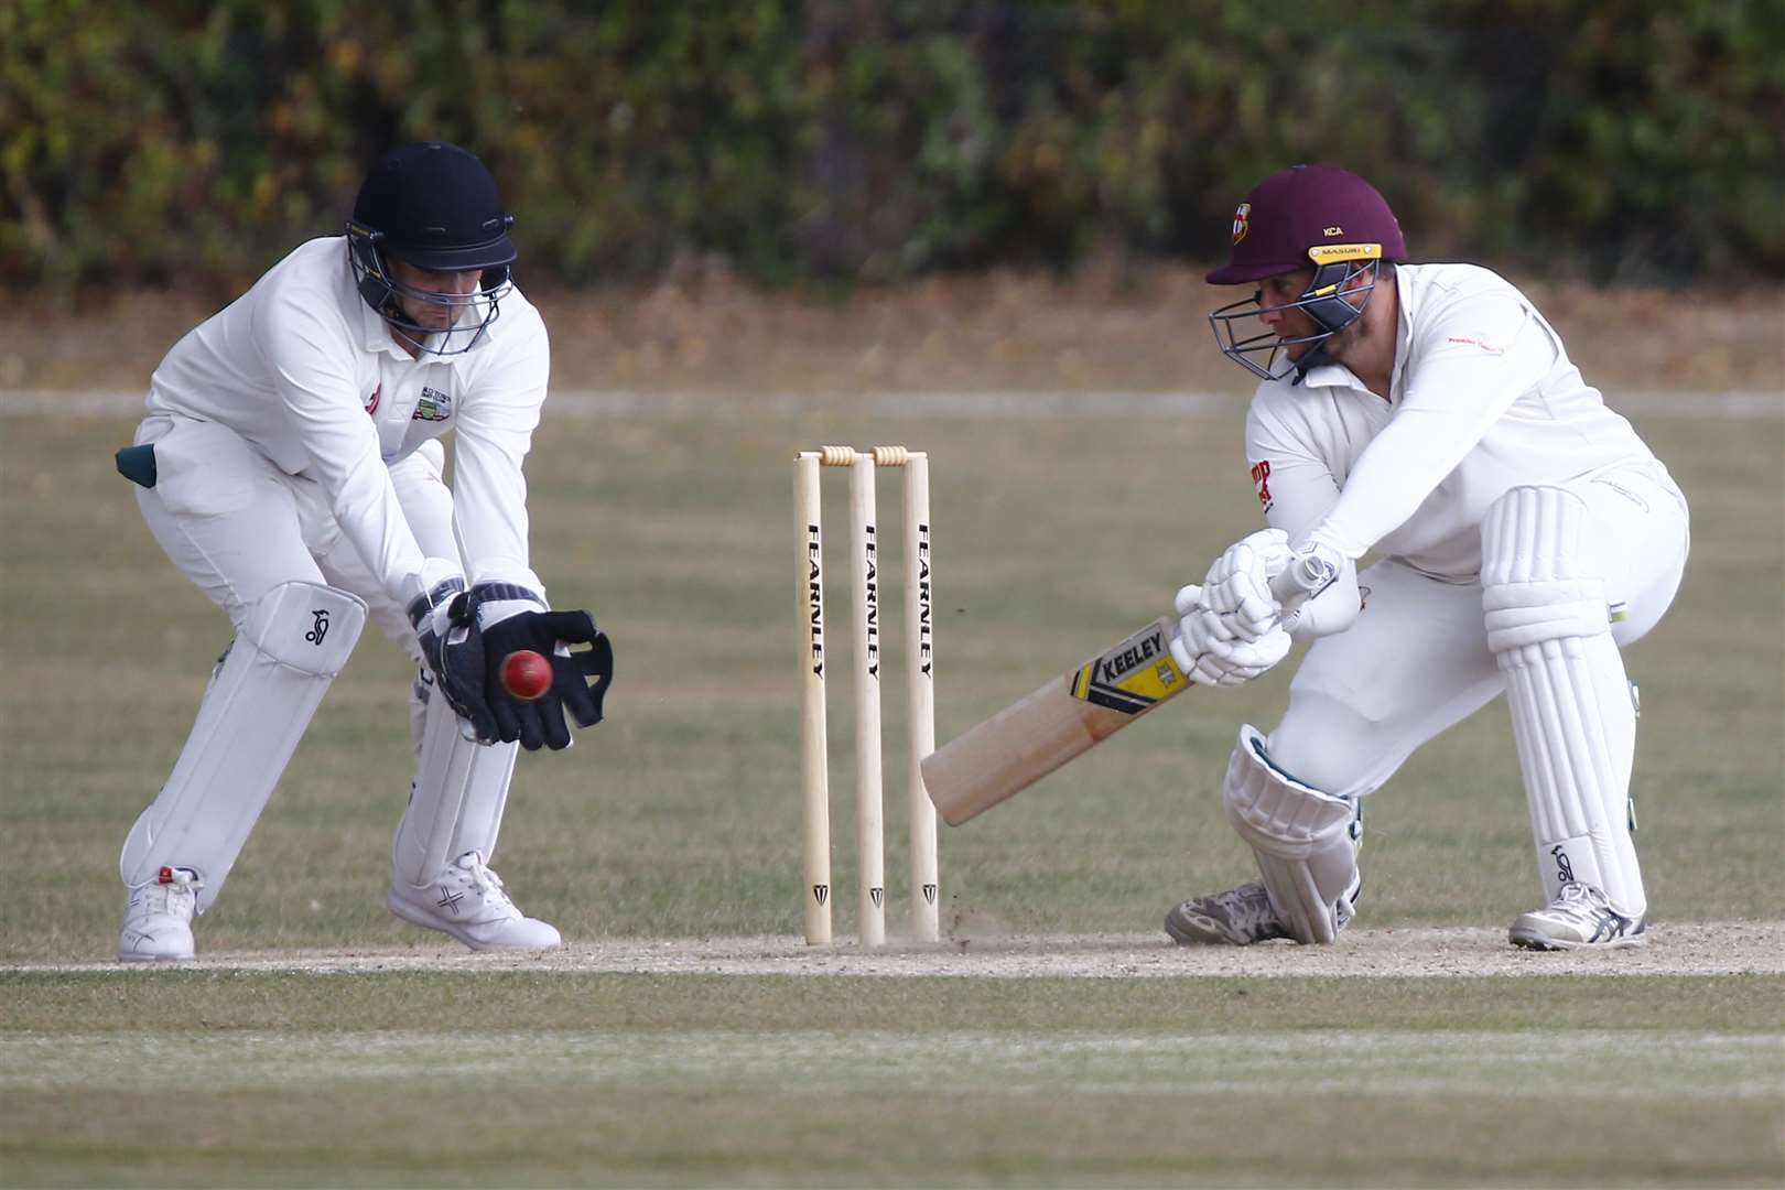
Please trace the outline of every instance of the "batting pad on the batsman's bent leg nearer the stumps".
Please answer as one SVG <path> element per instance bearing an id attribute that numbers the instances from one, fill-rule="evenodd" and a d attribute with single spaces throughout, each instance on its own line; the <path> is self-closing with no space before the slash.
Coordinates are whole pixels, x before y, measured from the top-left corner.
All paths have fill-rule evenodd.
<path id="1" fill-rule="evenodd" d="M 1298 942 L 1333 942 L 1357 888 L 1357 806 L 1303 785 L 1271 764 L 1266 739 L 1241 726 L 1221 805 L 1251 844 L 1258 874 Z"/>

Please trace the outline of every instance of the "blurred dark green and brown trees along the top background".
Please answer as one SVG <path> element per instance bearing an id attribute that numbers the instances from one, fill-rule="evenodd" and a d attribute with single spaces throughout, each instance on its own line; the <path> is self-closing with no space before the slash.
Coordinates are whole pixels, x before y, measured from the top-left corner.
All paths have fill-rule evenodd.
<path id="1" fill-rule="evenodd" d="M 0 278 L 237 285 L 450 139 L 569 285 L 1214 260 L 1296 161 L 1414 259 L 1776 280 L 1781 130 L 1785 0 L 4 0 Z"/>

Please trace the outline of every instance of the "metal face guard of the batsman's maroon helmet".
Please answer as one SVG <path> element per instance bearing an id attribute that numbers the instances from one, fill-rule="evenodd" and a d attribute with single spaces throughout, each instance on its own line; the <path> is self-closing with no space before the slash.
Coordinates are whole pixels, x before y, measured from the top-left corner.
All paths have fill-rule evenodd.
<path id="1" fill-rule="evenodd" d="M 1305 375 L 1310 368 L 1330 362 L 1326 341 L 1364 316 L 1369 294 L 1376 291 L 1382 268 L 1382 244 L 1346 244 L 1357 250 L 1358 257 L 1330 259 L 1316 264 L 1314 278 L 1294 302 L 1283 305 L 1264 305 L 1262 291 L 1253 291 L 1250 298 L 1223 305 L 1208 316 L 1216 346 L 1230 360 L 1258 376 L 1260 380 L 1283 380 L 1291 373 Z M 1332 250 L 1312 250 L 1308 255 L 1326 255 Z M 1358 278 L 1367 277 L 1364 284 Z M 1319 326 L 1312 335 L 1285 339 L 1264 325 L 1262 314 L 1276 310 L 1305 310 Z M 1303 351 L 1301 359 L 1291 359 L 1289 348 L 1303 343 L 1314 344 Z"/>

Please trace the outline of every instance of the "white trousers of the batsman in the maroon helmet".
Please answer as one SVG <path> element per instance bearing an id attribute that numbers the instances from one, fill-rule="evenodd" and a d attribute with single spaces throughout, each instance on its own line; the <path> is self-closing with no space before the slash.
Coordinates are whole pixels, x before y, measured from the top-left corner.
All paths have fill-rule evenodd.
<path id="1" fill-rule="evenodd" d="M 1656 462 L 1565 483 L 1589 508 L 1606 598 L 1623 603 L 1619 646 L 1662 617 L 1685 571 L 1685 496 Z M 1358 574 L 1369 589 L 1346 632 L 1321 637 L 1289 687 L 1271 756 L 1335 796 L 1380 789 L 1426 740 L 1505 689 L 1487 648 L 1482 583 L 1446 583 L 1394 560 Z"/>

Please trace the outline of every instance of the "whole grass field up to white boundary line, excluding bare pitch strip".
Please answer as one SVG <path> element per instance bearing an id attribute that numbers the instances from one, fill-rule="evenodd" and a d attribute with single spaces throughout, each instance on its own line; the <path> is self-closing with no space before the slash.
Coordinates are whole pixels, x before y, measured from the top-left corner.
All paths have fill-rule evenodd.
<path id="1" fill-rule="evenodd" d="M 528 912 L 573 942 L 798 931 L 796 446 L 930 450 L 944 739 L 1162 612 L 1253 528 L 1237 412 L 975 409 L 548 410 L 528 469 L 536 560 L 555 601 L 594 608 L 619 673 L 607 724 L 521 760 L 496 867 Z M 1628 655 L 1656 946 L 1669 922 L 1785 919 L 1785 423 L 1692 409 L 1637 417 L 1694 510 L 1680 601 Z M 0 417 L 0 1185 L 1785 1178 L 1776 963 L 1330 976 L 1298 974 L 1282 947 L 1269 979 L 45 969 L 111 954 L 118 844 L 227 642 L 112 473 L 130 425 Z M 892 537 L 896 501 L 882 507 Z M 841 635 L 841 583 L 830 603 Z M 944 828 L 944 930 L 962 944 L 1151 931 L 1185 894 L 1242 878 L 1221 767 L 1241 721 L 1274 723 L 1287 673 L 1194 694 Z M 411 767 L 405 680 L 368 635 L 203 919 L 202 951 L 434 947 L 382 905 Z M 850 890 L 844 685 L 834 883 Z M 885 708 L 898 935 L 901 699 Z M 1533 903 L 1501 707 L 1416 756 L 1369 810 L 1360 924 L 1503 928 Z"/>

